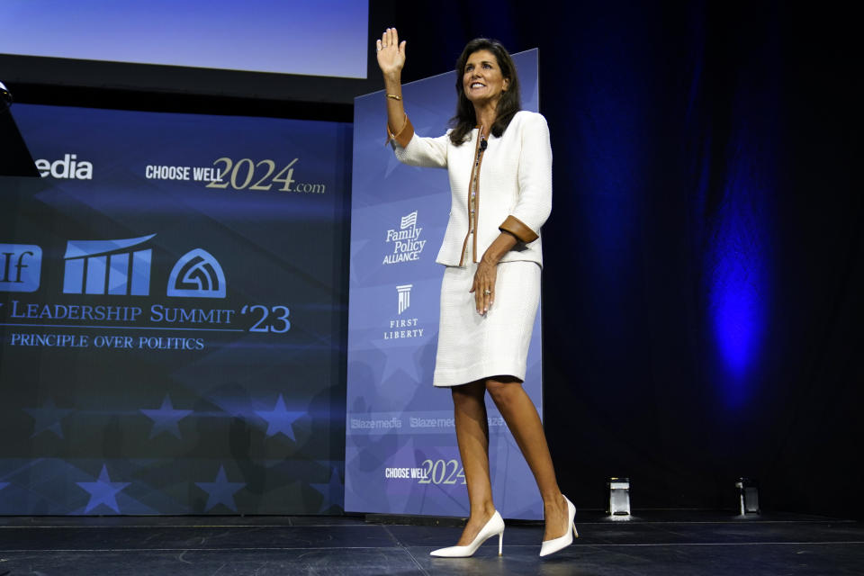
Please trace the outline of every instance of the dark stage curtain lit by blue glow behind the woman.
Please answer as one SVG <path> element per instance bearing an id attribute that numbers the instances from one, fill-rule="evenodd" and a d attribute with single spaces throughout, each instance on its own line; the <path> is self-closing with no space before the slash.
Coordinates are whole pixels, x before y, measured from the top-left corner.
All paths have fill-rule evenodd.
<path id="1" fill-rule="evenodd" d="M 476 36 L 540 49 L 545 427 L 578 506 L 628 476 L 635 509 L 733 508 L 746 476 L 763 509 L 861 518 L 860 65 L 844 10 L 374 9 L 373 36 L 395 24 L 409 42 L 406 80 L 452 69 Z"/>

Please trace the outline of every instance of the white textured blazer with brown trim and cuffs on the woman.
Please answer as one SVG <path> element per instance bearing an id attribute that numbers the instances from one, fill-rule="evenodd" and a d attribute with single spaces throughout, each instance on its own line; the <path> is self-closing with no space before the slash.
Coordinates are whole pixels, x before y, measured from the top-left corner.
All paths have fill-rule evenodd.
<path id="1" fill-rule="evenodd" d="M 477 195 L 477 232 L 469 238 L 468 193 L 478 129 L 462 146 L 450 141 L 450 130 L 438 138 L 414 134 L 407 120 L 392 136 L 396 157 L 410 166 L 446 168 L 453 201 L 444 243 L 436 262 L 464 266 L 463 254 L 478 262 L 500 231 L 519 242 L 501 262 L 527 260 L 543 265 L 540 228 L 552 210 L 552 146 L 545 118 L 536 112 L 517 112 L 500 138 L 490 136 L 482 154 Z"/>

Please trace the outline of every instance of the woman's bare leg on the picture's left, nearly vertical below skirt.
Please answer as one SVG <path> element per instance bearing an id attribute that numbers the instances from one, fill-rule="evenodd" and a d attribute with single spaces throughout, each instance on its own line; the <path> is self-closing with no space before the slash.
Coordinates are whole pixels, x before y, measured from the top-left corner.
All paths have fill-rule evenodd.
<path id="1" fill-rule="evenodd" d="M 486 387 L 482 381 L 454 386 L 453 411 L 456 441 L 468 486 L 471 506 L 468 524 L 457 545 L 469 545 L 495 513 L 489 479 L 489 420 L 486 417 Z"/>

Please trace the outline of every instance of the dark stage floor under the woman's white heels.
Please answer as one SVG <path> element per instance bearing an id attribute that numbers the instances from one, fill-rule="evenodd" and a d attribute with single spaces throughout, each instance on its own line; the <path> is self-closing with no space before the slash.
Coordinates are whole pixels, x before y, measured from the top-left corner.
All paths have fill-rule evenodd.
<path id="1" fill-rule="evenodd" d="M 644 510 L 628 521 L 577 515 L 580 538 L 541 560 L 543 528 L 511 523 L 473 558 L 432 558 L 458 527 L 363 517 L 0 517 L 0 576 L 256 574 L 861 574 L 864 525 L 766 514 Z"/>

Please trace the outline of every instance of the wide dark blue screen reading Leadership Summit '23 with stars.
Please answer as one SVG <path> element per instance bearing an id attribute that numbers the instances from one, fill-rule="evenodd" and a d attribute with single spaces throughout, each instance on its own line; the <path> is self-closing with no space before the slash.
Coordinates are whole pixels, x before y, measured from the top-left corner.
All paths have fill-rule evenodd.
<path id="1" fill-rule="evenodd" d="M 0 514 L 341 513 L 350 124 L 13 112 Z"/>

